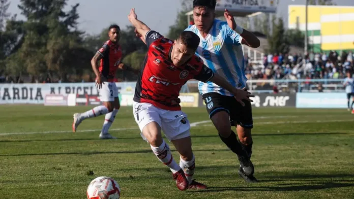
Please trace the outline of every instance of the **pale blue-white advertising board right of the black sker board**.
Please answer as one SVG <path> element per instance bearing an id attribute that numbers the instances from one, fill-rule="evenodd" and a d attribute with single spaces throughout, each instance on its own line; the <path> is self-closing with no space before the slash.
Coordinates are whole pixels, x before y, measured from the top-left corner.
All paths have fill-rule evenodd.
<path id="1" fill-rule="evenodd" d="M 299 92 L 296 108 L 347 108 L 346 93 L 306 93 Z"/>

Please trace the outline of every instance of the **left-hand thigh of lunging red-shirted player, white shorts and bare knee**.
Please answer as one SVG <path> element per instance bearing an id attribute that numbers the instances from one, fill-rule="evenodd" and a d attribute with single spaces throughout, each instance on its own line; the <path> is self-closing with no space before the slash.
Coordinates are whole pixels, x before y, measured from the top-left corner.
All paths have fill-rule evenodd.
<path id="1" fill-rule="evenodd" d="M 161 118 L 158 111 L 149 103 L 133 103 L 134 119 L 139 126 L 140 135 L 153 146 L 162 144 Z"/>

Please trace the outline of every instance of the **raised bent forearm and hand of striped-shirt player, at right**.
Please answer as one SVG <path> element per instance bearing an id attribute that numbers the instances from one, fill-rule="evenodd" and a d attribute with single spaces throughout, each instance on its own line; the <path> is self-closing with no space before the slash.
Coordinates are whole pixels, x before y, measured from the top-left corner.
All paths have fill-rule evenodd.
<path id="1" fill-rule="evenodd" d="M 239 41 L 241 44 L 245 44 L 251 48 L 258 48 L 260 45 L 259 39 L 250 31 L 238 26 L 233 18 L 233 16 L 229 13 L 227 9 L 225 9 L 224 17 L 227 21 L 227 25 L 235 32 L 237 32 L 242 40 Z M 232 37 L 230 35 L 230 37 Z"/>

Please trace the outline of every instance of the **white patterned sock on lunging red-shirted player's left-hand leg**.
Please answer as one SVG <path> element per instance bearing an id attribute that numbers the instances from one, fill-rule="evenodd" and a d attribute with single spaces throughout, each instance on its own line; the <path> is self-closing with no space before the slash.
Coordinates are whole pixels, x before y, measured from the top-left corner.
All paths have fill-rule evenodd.
<path id="1" fill-rule="evenodd" d="M 174 161 L 171 151 L 165 141 L 162 141 L 162 144 L 159 147 L 151 146 L 151 149 L 157 158 L 170 168 L 172 173 L 176 173 L 181 170 L 180 166 Z"/>

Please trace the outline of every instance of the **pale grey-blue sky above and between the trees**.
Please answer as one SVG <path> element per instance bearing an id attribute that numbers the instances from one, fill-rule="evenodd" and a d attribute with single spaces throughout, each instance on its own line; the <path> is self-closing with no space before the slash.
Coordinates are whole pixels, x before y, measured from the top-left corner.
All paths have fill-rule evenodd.
<path id="1" fill-rule="evenodd" d="M 267 1 L 267 0 L 265 0 Z M 20 0 L 10 0 L 8 12 L 17 14 L 18 19 L 24 19 L 20 15 L 17 5 Z M 99 2 L 99 3 L 98 3 Z M 260 2 L 260 0 L 258 0 Z M 333 0 L 340 6 L 354 6 L 354 0 Z M 182 9 L 181 0 L 69 0 L 68 5 L 79 3 L 79 28 L 87 34 L 99 34 L 102 29 L 111 23 L 117 23 L 124 29 L 130 24 L 128 14 L 131 8 L 135 8 L 138 19 L 143 21 L 151 29 L 167 34 L 169 26 L 174 24 L 177 13 Z M 287 27 L 288 5 L 304 5 L 305 0 L 279 0 L 277 15 L 283 17 Z M 162 9 L 161 9 L 162 8 Z M 68 10 L 70 7 L 67 8 Z M 187 24 L 186 24 L 187 26 Z"/>

